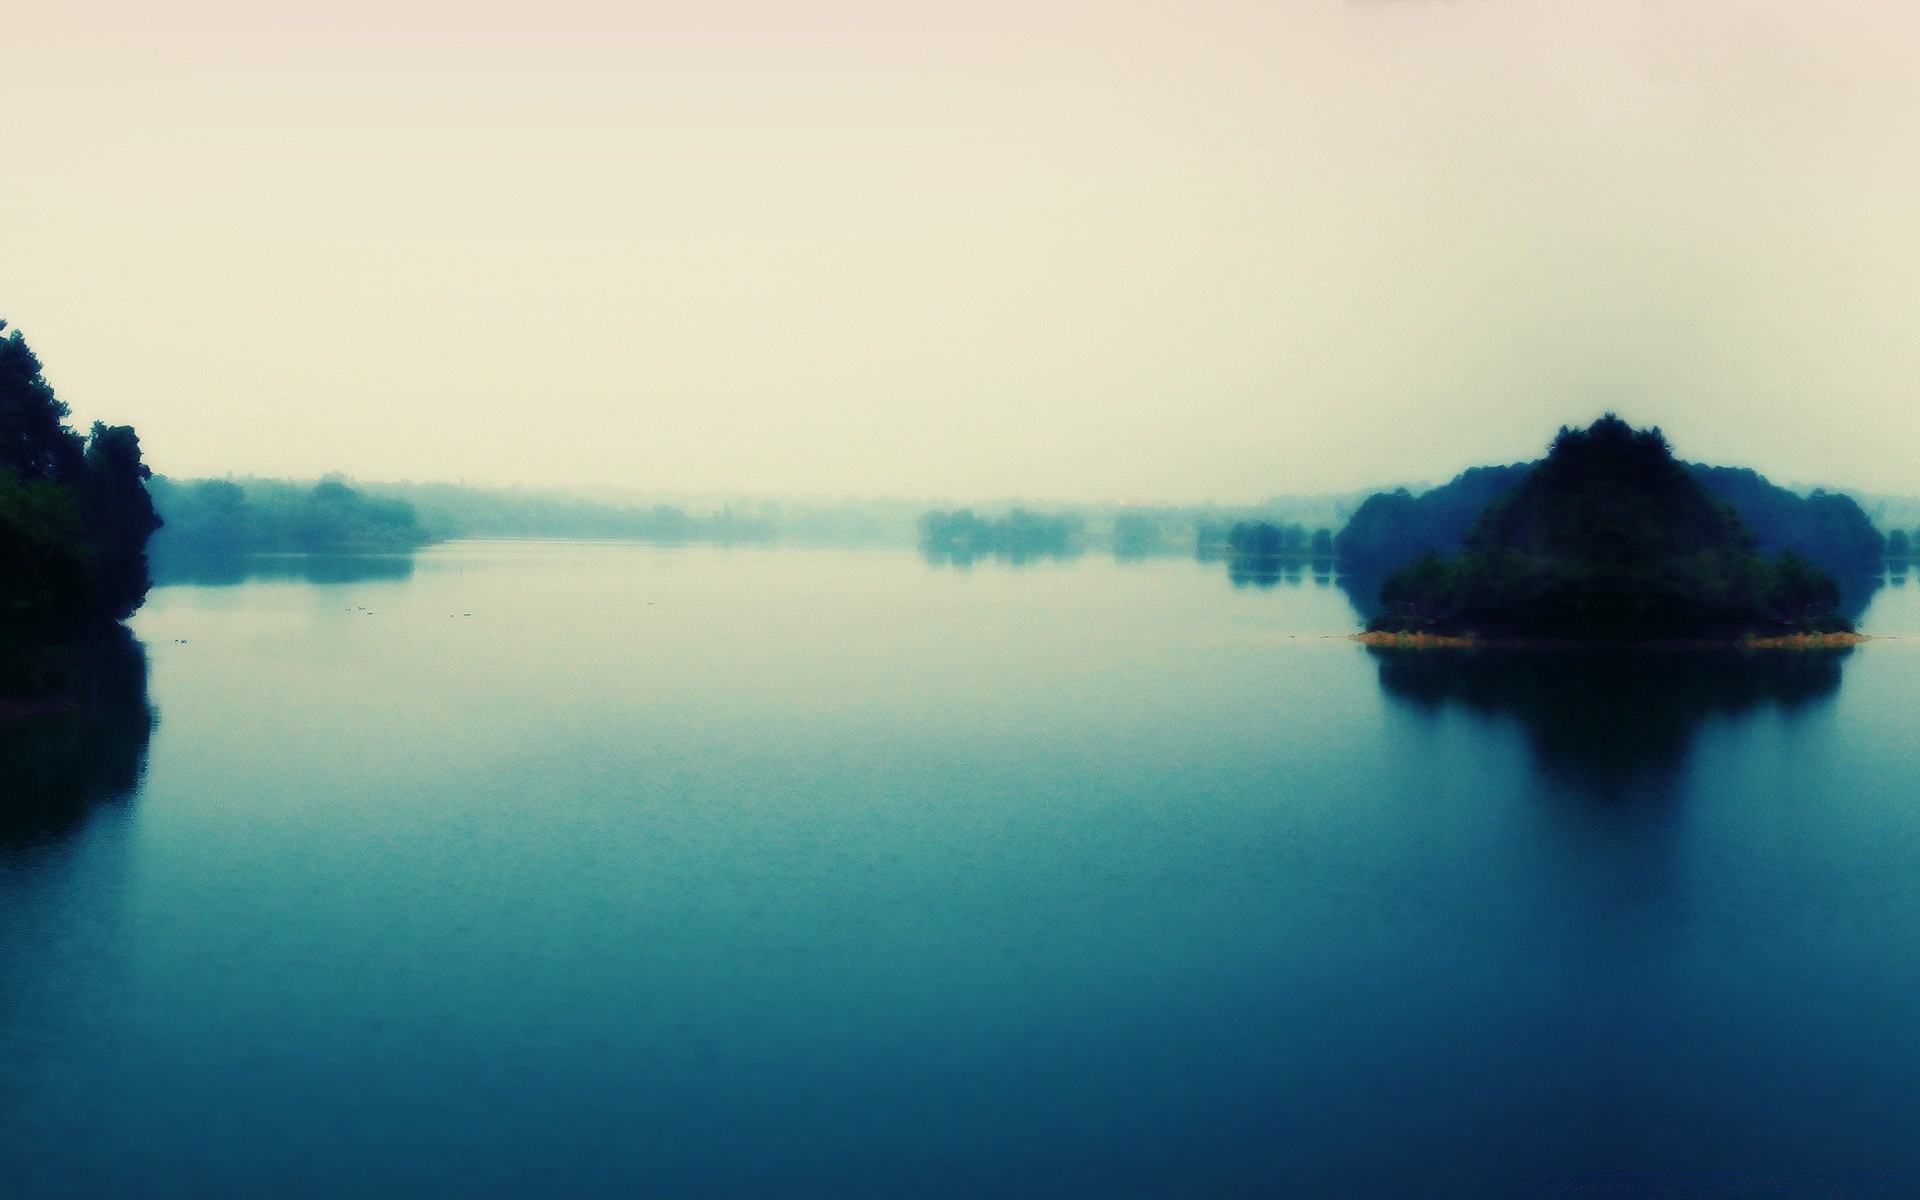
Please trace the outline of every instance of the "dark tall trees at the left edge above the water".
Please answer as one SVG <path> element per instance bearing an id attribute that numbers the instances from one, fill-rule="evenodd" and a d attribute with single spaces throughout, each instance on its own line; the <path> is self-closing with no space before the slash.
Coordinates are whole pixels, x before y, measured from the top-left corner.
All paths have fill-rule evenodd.
<path id="1" fill-rule="evenodd" d="M 17 332 L 0 340 L 0 639 L 67 639 L 140 607 L 150 474 L 131 428 L 67 428 L 40 359 Z"/>

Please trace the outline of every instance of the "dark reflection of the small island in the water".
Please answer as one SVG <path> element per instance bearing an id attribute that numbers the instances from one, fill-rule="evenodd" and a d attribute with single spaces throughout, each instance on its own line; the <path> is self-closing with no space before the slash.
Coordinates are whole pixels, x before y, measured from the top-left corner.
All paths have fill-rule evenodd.
<path id="1" fill-rule="evenodd" d="M 1707 718 L 1832 699 L 1853 653 L 1369 649 L 1386 695 L 1423 712 L 1517 718 L 1548 774 L 1605 799 L 1665 791 Z"/>

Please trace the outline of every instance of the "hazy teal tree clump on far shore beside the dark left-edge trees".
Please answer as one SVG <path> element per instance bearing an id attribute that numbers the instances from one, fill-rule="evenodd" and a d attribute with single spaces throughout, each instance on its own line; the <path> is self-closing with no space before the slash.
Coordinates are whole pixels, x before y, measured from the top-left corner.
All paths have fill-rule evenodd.
<path id="1" fill-rule="evenodd" d="M 430 541 L 403 499 L 378 497 L 338 478 L 154 480 L 165 530 L 156 553 L 409 551 Z"/>

